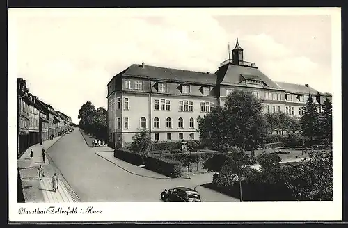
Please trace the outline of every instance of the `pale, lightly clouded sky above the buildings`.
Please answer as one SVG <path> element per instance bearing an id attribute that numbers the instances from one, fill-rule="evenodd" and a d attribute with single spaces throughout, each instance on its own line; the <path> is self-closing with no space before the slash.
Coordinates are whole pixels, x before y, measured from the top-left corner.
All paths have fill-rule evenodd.
<path id="1" fill-rule="evenodd" d="M 237 37 L 244 60 L 256 63 L 270 79 L 332 92 L 331 15 L 96 12 L 8 13 L 16 76 L 26 79 L 29 92 L 77 124 L 86 101 L 107 108 L 107 83 L 133 63 L 215 72 Z"/>

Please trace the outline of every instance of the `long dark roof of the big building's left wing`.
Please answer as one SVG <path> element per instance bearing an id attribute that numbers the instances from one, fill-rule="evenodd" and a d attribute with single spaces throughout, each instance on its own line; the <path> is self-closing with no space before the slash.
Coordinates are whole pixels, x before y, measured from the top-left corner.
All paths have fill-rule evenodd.
<path id="1" fill-rule="evenodd" d="M 133 64 L 128 67 L 122 74 L 123 76 L 144 76 L 148 79 L 159 79 L 164 81 L 181 81 L 191 83 L 216 83 L 216 74 L 207 74 L 204 72 L 194 72 L 190 70 L 179 70 L 166 67 L 155 67 L 145 65 L 142 67 Z"/>

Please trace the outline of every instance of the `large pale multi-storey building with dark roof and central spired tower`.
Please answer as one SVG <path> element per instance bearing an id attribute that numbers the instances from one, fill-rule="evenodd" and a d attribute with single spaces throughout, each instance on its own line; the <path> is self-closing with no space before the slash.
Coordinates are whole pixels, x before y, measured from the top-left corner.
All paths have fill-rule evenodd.
<path id="1" fill-rule="evenodd" d="M 126 146 L 139 129 L 149 129 L 156 141 L 198 139 L 198 116 L 223 106 L 237 88 L 252 90 L 264 113 L 299 116 L 308 95 L 319 97 L 318 105 L 323 102 L 322 94 L 308 85 L 276 83 L 243 56 L 237 39 L 232 59 L 215 73 L 142 63 L 113 76 L 107 85 L 109 146 Z"/>

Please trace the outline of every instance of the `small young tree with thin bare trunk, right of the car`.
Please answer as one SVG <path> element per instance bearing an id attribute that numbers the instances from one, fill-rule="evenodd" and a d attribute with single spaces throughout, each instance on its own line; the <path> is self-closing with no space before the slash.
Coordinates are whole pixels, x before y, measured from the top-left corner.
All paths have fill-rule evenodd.
<path id="1" fill-rule="evenodd" d="M 233 149 L 230 152 L 230 149 L 227 148 L 226 151 L 226 161 L 221 168 L 220 175 L 226 179 L 232 179 L 237 176 L 239 182 L 239 199 L 243 200 L 242 195 L 242 176 L 249 163 L 249 157 L 245 154 L 244 149 L 237 148 Z"/>

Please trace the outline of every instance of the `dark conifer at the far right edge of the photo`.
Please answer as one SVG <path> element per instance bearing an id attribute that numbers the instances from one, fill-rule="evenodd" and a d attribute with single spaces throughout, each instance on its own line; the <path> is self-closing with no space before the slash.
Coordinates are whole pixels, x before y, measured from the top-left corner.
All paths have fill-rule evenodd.
<path id="1" fill-rule="evenodd" d="M 324 145 L 332 142 L 332 104 L 329 99 L 325 99 L 322 112 L 319 115 L 320 137 L 324 140 Z"/>

